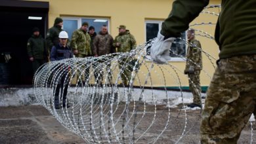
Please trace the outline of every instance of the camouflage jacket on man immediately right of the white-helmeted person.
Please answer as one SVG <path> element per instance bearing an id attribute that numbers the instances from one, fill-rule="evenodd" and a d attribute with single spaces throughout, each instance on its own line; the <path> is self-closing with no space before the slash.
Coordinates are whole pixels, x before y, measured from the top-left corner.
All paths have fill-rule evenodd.
<path id="1" fill-rule="evenodd" d="M 77 29 L 72 34 L 70 46 L 72 47 L 72 50 L 78 51 L 78 56 L 89 56 L 92 54 L 90 42 L 90 35 L 82 29 Z"/>

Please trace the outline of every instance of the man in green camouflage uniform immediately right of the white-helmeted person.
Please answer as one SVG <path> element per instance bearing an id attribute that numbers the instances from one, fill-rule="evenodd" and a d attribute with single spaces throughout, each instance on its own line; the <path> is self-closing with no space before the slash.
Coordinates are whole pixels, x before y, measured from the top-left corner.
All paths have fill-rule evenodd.
<path id="1" fill-rule="evenodd" d="M 72 39 L 70 46 L 77 58 L 86 58 L 91 56 L 91 37 L 87 33 L 88 23 L 83 22 L 80 29 L 77 29 L 72 34 Z M 83 71 L 83 69 L 81 69 Z M 85 75 L 83 82 L 87 81 L 89 78 L 89 71 L 90 71 L 90 63 L 85 64 Z M 80 74 L 79 74 L 80 75 Z"/>

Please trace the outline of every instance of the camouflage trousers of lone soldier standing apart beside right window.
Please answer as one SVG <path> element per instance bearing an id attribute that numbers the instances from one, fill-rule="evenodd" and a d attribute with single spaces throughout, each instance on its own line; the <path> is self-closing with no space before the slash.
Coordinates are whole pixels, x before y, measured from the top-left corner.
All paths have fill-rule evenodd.
<path id="1" fill-rule="evenodd" d="M 188 74 L 189 89 L 193 94 L 193 103 L 202 105 L 201 103 L 201 86 L 200 86 L 200 71 L 195 71 L 195 74 Z"/>

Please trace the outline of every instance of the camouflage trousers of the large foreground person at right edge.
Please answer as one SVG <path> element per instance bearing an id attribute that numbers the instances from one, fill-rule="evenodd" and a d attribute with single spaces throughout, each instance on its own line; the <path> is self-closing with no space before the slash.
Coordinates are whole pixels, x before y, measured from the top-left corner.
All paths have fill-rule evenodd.
<path id="1" fill-rule="evenodd" d="M 237 143 L 256 106 L 256 55 L 220 60 L 207 90 L 201 143 Z"/>

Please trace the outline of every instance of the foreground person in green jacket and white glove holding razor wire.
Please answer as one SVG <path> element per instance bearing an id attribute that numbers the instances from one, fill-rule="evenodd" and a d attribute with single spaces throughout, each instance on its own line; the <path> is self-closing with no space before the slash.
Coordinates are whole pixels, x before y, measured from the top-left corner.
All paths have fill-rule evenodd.
<path id="1" fill-rule="evenodd" d="M 153 45 L 152 58 L 164 58 L 173 37 L 179 37 L 209 0 L 173 2 Z M 201 143 L 237 143 L 256 109 L 256 1 L 222 1 L 215 28 L 219 45 L 217 69 L 207 90 L 200 126 Z M 182 10 L 182 12 L 181 12 Z M 151 53 L 152 53 L 151 52 Z M 161 52 L 161 53 L 157 53 Z M 163 59 L 161 59 L 163 60 Z"/>

